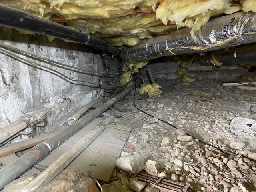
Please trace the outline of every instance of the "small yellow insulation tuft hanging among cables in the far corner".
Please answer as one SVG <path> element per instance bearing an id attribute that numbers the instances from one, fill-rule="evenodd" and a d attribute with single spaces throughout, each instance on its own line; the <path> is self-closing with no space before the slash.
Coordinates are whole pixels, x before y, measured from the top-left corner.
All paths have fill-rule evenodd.
<path id="1" fill-rule="evenodd" d="M 123 68 L 124 74 L 120 78 L 121 83 L 128 83 L 131 79 L 132 74 L 138 73 L 139 69 L 146 66 L 148 61 L 141 61 L 136 63 L 125 63 L 126 66 Z"/>

